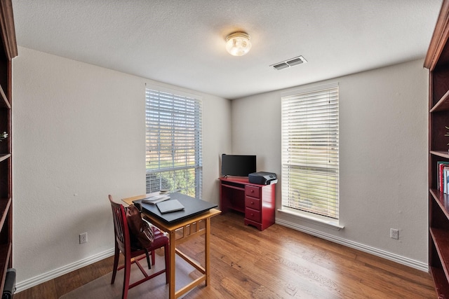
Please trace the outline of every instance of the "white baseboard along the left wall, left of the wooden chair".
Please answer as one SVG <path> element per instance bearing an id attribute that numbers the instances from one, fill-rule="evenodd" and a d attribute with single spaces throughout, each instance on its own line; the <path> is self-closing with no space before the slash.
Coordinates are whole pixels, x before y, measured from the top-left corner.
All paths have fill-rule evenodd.
<path id="1" fill-rule="evenodd" d="M 88 258 L 84 258 L 83 260 L 78 260 L 69 265 L 65 265 L 64 267 L 60 267 L 58 269 L 52 270 L 50 272 L 46 272 L 36 277 L 32 277 L 30 279 L 26 279 L 24 281 L 19 281 L 15 284 L 17 290 L 15 293 L 19 293 L 20 291 L 24 291 L 27 288 L 32 288 L 33 286 L 37 286 L 38 284 L 42 284 L 43 282 L 49 281 L 56 277 L 60 277 L 61 275 L 67 274 L 74 270 L 78 270 L 87 265 L 91 265 L 92 263 L 98 262 L 99 260 L 103 260 L 105 258 L 109 258 L 109 256 L 114 256 L 114 248 L 109 249 L 107 251 L 100 252 L 95 254 L 94 256 L 89 256 Z M 112 270 L 112 265 L 111 265 Z"/>

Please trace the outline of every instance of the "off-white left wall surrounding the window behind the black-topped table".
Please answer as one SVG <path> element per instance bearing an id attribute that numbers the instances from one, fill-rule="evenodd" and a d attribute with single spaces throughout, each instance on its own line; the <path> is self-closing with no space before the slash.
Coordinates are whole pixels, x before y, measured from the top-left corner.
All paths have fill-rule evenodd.
<path id="1" fill-rule="evenodd" d="M 145 83 L 203 99 L 203 199 L 218 203 L 229 100 L 19 47 L 13 60 L 18 291 L 112 253 L 107 199 L 145 193 Z M 88 232 L 88 242 L 78 236 Z"/>

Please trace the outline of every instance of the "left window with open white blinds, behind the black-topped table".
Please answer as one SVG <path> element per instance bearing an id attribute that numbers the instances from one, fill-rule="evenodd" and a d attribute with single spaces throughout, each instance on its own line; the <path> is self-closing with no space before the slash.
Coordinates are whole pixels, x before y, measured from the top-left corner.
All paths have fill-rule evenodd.
<path id="1" fill-rule="evenodd" d="M 146 90 L 147 193 L 201 197 L 201 100 Z"/>

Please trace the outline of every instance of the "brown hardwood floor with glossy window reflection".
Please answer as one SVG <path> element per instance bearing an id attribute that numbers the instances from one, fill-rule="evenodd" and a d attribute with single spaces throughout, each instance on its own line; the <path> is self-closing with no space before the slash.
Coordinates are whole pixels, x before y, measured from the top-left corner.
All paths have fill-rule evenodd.
<path id="1" fill-rule="evenodd" d="M 203 238 L 181 249 L 203 263 Z M 260 232 L 233 212 L 212 219 L 210 254 L 210 285 L 185 298 L 437 298 L 426 272 L 281 225 Z M 111 271 L 107 258 L 14 299 L 56 299 Z"/>

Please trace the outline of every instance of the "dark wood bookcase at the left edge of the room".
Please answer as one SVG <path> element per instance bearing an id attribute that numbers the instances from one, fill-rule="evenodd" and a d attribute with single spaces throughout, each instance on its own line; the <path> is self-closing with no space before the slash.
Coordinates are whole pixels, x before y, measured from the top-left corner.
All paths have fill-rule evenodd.
<path id="1" fill-rule="evenodd" d="M 12 178 L 12 77 L 11 60 L 17 56 L 13 6 L 0 0 L 0 289 L 3 293 L 6 270 L 13 267 L 13 178 Z"/>

